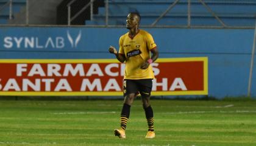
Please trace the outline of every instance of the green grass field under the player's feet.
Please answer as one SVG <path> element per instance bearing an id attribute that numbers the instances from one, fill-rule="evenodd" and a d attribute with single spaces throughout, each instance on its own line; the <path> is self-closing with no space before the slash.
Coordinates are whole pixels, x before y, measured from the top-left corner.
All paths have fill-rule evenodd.
<path id="1" fill-rule="evenodd" d="M 135 100 L 118 139 L 121 100 L 0 100 L 0 145 L 256 145 L 256 102 L 152 100 L 155 139 Z"/>

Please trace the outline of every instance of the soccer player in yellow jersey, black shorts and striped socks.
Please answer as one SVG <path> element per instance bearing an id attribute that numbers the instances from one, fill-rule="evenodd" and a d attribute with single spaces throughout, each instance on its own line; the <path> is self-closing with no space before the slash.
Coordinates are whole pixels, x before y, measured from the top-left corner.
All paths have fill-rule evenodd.
<path id="1" fill-rule="evenodd" d="M 125 130 L 130 115 L 130 106 L 138 93 L 141 94 L 148 121 L 146 138 L 155 137 L 154 116 L 149 98 L 154 78 L 151 63 L 157 60 L 158 50 L 151 34 L 139 29 L 139 25 L 140 14 L 129 13 L 126 19 L 126 27 L 129 32 L 119 38 L 119 52 L 113 46 L 108 49 L 110 53 L 116 55 L 120 62 L 126 61 L 123 81 L 124 104 L 120 118 L 121 128 L 115 130 L 115 136 L 119 138 L 126 138 Z"/>

